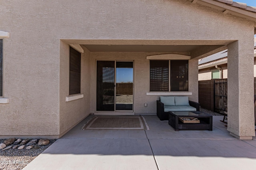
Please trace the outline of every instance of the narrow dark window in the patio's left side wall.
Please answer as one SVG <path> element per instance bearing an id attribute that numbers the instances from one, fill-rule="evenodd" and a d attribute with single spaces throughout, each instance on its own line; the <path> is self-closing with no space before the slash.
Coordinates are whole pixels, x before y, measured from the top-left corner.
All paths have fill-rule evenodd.
<path id="1" fill-rule="evenodd" d="M 70 47 L 69 57 L 69 95 L 80 94 L 81 53 Z"/>

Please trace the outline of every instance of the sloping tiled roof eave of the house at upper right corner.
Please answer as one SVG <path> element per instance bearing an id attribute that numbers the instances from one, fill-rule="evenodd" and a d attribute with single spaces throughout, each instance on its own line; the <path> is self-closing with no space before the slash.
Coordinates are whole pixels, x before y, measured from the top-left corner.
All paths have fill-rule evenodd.
<path id="1" fill-rule="evenodd" d="M 201 4 L 210 8 L 220 10 L 223 14 L 232 14 L 253 21 L 256 21 L 256 7 L 247 6 L 246 3 L 235 2 L 233 0 L 189 0 L 192 4 Z"/>

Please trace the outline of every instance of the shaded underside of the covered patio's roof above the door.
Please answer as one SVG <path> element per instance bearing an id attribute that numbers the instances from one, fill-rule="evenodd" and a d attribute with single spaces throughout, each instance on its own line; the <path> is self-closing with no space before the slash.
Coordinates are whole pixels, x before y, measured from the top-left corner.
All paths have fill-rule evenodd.
<path id="1" fill-rule="evenodd" d="M 226 49 L 236 40 L 120 40 L 61 39 L 70 45 L 83 45 L 91 52 L 164 52 L 203 58 Z"/>

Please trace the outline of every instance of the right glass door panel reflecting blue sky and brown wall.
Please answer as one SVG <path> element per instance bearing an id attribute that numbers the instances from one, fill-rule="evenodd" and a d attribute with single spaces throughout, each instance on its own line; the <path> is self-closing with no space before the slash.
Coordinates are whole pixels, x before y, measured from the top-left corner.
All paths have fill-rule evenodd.
<path id="1" fill-rule="evenodd" d="M 133 110 L 133 62 L 116 62 L 116 110 Z"/>

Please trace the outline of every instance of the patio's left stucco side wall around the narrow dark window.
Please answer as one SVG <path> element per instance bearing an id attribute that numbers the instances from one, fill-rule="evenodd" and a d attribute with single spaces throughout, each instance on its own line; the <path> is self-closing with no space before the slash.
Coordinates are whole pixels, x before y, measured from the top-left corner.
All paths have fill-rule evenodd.
<path id="1" fill-rule="evenodd" d="M 60 41 L 60 134 L 90 114 L 90 51 L 81 55 L 81 94 L 83 98 L 66 102 L 69 96 L 69 45 Z"/>

